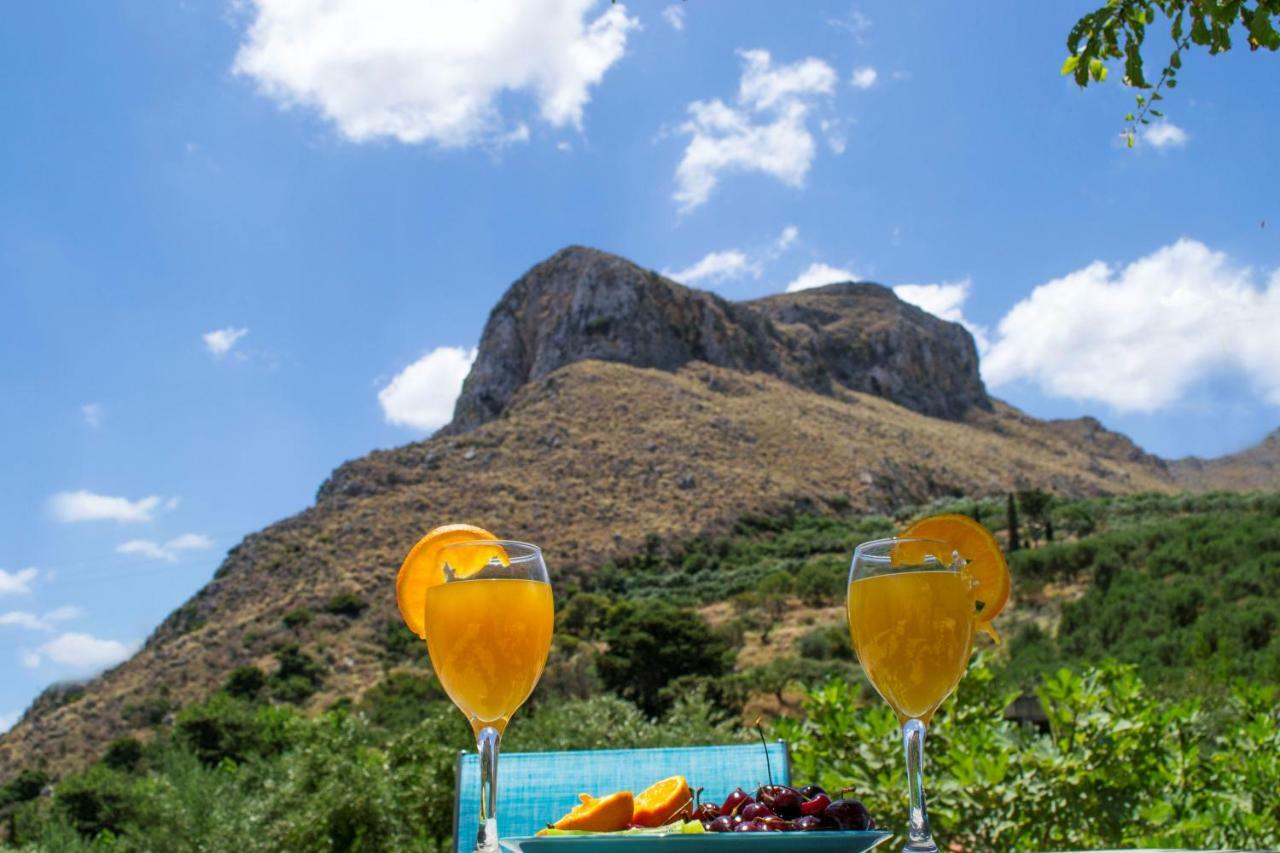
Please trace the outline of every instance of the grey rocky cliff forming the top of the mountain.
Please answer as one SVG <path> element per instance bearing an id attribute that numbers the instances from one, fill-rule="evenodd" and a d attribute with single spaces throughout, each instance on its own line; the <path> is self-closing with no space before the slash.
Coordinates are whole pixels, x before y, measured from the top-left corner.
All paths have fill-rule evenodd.
<path id="1" fill-rule="evenodd" d="M 676 370 L 690 361 L 833 386 L 957 419 L 991 406 L 973 338 L 878 284 L 728 302 L 593 248 L 570 247 L 494 307 L 447 434 L 500 415 L 516 391 L 575 361 Z"/>

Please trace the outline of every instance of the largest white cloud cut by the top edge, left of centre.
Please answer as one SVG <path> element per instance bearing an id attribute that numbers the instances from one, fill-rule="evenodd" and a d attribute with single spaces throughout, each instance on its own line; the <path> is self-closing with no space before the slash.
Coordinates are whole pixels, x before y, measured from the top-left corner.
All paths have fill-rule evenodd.
<path id="1" fill-rule="evenodd" d="M 248 0 L 234 69 L 284 106 L 317 110 L 348 140 L 463 146 L 516 124 L 529 95 L 553 127 L 581 128 L 590 90 L 639 26 L 596 0 Z"/>

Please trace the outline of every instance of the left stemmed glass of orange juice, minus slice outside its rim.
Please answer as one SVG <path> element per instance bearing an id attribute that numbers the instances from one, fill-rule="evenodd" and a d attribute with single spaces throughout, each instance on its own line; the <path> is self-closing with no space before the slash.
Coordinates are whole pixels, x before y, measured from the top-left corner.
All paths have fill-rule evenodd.
<path id="1" fill-rule="evenodd" d="M 426 592 L 426 648 L 480 753 L 476 850 L 498 850 L 498 751 L 547 665 L 554 605 L 538 546 L 471 540 L 440 549 L 444 583 Z"/>

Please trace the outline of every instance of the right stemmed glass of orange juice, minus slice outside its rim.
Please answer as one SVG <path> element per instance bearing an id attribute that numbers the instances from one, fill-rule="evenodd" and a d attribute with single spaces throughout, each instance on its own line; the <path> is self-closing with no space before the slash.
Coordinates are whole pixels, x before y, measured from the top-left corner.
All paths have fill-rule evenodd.
<path id="1" fill-rule="evenodd" d="M 973 649 L 974 583 L 937 539 L 878 539 L 854 551 L 849 633 L 876 690 L 897 713 L 906 753 L 910 853 L 937 853 L 924 806 L 924 733 Z"/>

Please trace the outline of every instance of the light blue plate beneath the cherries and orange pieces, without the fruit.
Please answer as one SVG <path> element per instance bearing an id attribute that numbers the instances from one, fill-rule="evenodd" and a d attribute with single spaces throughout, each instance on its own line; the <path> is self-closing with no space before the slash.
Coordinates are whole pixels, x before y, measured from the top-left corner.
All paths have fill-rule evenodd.
<path id="1" fill-rule="evenodd" d="M 508 853 L 861 853 L 892 833 L 700 833 L 698 835 L 547 835 L 503 839 Z"/>

